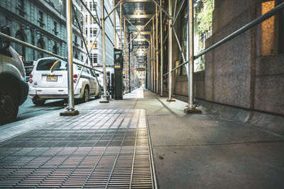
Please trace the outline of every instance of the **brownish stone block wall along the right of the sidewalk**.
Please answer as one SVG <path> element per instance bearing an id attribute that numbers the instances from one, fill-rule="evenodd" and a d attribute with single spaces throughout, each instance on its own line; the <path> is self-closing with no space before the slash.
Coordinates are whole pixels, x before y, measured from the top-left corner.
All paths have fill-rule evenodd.
<path id="1" fill-rule="evenodd" d="M 206 47 L 261 16 L 262 1 L 215 0 L 212 36 Z M 277 17 L 276 17 L 277 18 Z M 277 21 L 277 19 L 275 19 Z M 275 26 L 275 30 L 277 29 Z M 207 53 L 205 70 L 194 75 L 195 97 L 284 115 L 284 55 L 261 54 L 261 24 Z M 277 31 L 271 40 L 277 47 Z M 178 76 L 176 96 L 187 96 L 187 76 Z"/>

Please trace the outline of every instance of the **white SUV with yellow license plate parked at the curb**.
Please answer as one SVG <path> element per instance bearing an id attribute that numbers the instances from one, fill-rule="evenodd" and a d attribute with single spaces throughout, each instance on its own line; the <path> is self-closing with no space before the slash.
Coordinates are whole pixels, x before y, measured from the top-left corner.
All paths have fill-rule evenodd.
<path id="1" fill-rule="evenodd" d="M 28 96 L 35 105 L 43 105 L 47 99 L 65 99 L 68 96 L 67 81 L 67 62 L 55 57 L 38 59 L 30 74 Z M 90 96 L 101 98 L 92 69 L 73 64 L 73 82 L 74 98 L 84 102 L 89 101 Z"/>

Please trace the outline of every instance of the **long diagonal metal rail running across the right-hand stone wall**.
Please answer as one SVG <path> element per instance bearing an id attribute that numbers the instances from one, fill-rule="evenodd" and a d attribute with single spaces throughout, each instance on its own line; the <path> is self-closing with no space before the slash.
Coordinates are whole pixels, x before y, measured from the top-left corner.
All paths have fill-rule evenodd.
<path id="1" fill-rule="evenodd" d="M 255 20 L 251 21 L 250 23 L 244 25 L 242 28 L 239 28 L 239 30 L 236 30 L 234 33 L 231 33 L 230 35 L 226 36 L 222 40 L 219 40 L 219 42 L 216 42 L 214 45 L 212 45 L 211 47 L 208 47 L 206 50 L 203 50 L 202 52 L 200 52 L 200 54 L 195 55 L 194 59 L 197 59 L 197 58 L 201 57 L 202 55 L 205 55 L 207 52 L 210 52 L 210 51 L 214 50 L 215 48 L 219 47 L 220 45 L 224 44 L 225 42 L 227 42 L 227 41 L 229 41 L 233 38 L 236 38 L 236 36 L 241 35 L 241 33 L 246 32 L 247 30 L 258 25 L 259 23 L 266 21 L 268 18 L 271 18 L 271 16 L 278 13 L 278 11 L 282 11 L 283 9 L 284 9 L 284 3 L 281 3 L 280 5 L 271 9 L 271 11 L 268 11 L 267 13 L 263 14 L 262 16 L 256 18 Z M 175 69 L 178 69 L 178 68 L 182 67 L 183 65 L 185 65 L 187 63 L 188 63 L 188 61 L 180 64 L 178 67 L 175 67 L 171 71 L 175 71 Z M 167 72 L 163 76 L 165 76 L 167 74 L 169 74 L 169 72 Z"/>

